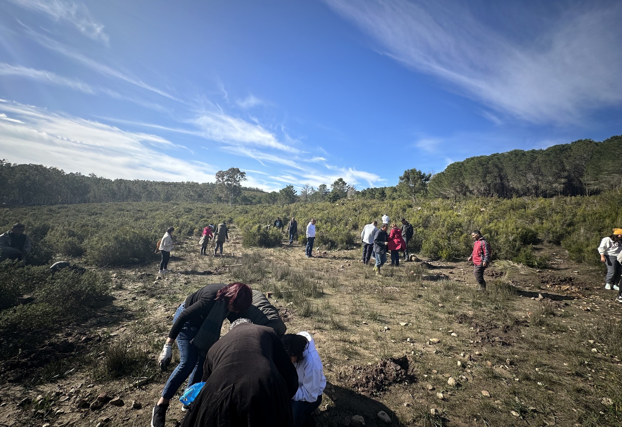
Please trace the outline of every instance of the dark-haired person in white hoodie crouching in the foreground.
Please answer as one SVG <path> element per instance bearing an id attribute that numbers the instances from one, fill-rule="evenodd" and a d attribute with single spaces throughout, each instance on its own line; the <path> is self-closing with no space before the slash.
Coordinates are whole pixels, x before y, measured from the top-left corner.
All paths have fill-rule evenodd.
<path id="1" fill-rule="evenodd" d="M 300 427 L 322 403 L 326 377 L 323 373 L 322 360 L 309 332 L 285 334 L 281 341 L 298 372 L 298 390 L 292 397 L 292 415 L 294 427 Z"/>

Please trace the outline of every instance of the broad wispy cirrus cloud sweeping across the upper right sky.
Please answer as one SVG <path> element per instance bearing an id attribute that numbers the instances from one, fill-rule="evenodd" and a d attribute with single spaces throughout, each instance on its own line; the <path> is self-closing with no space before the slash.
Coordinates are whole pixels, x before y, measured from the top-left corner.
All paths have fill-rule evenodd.
<path id="1" fill-rule="evenodd" d="M 466 2 L 325 2 L 380 52 L 513 117 L 567 124 L 622 103 L 621 2 L 570 2 L 546 18 L 547 30 L 521 28 L 522 40 L 486 25 Z"/>

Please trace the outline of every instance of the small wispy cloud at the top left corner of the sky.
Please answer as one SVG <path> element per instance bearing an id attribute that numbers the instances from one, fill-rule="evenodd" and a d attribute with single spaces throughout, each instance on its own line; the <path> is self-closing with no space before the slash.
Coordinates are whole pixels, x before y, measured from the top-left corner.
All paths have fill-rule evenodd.
<path id="1" fill-rule="evenodd" d="M 17 6 L 46 14 L 53 20 L 68 22 L 86 37 L 108 43 L 104 25 L 91 17 L 84 4 L 61 0 L 9 0 Z"/>

